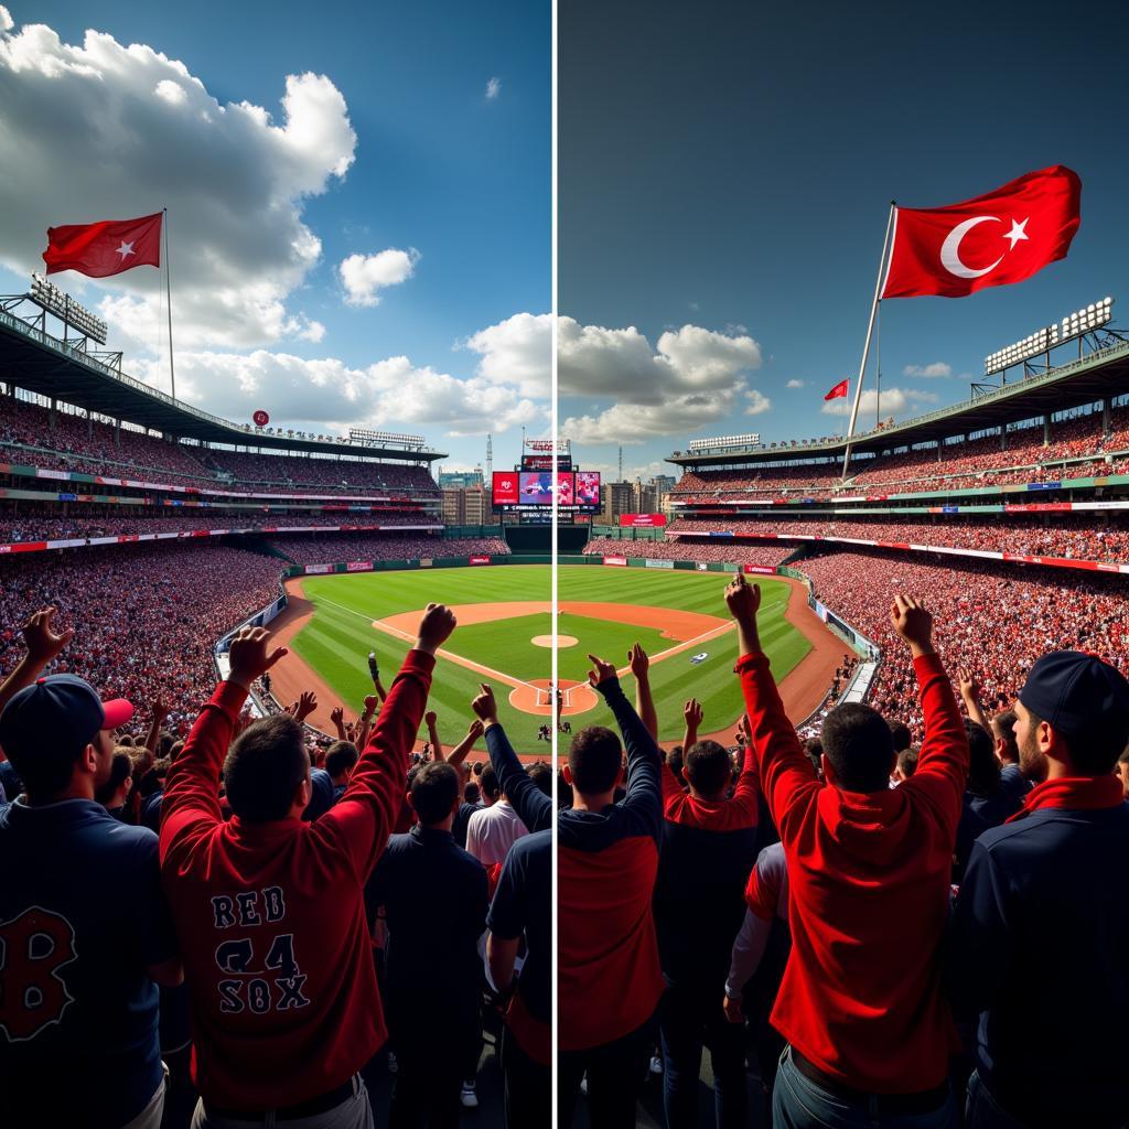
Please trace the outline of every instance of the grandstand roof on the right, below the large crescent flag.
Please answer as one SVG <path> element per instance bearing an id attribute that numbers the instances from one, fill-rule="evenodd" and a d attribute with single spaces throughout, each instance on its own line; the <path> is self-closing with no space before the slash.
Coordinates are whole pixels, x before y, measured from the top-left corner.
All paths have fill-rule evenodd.
<path id="1" fill-rule="evenodd" d="M 963 403 L 940 408 L 916 419 L 905 420 L 879 430 L 856 434 L 851 439 L 854 452 L 879 452 L 919 443 L 930 443 L 988 428 L 1029 420 L 1044 413 L 1066 411 L 1092 404 L 1105 396 L 1129 393 L 1129 342 L 1103 348 L 1068 365 L 1036 373 L 1022 380 L 1001 385 L 994 392 Z M 780 444 L 777 447 L 755 447 L 721 450 L 712 454 L 676 450 L 666 462 L 679 466 L 708 470 L 710 466 L 756 464 L 798 458 L 842 458 L 843 439 L 807 440 Z"/>

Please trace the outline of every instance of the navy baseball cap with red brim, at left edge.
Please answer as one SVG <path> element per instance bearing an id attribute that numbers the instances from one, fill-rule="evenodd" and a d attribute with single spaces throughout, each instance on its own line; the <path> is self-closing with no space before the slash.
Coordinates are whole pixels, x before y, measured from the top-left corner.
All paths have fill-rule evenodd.
<path id="1" fill-rule="evenodd" d="M 116 729 L 131 717 L 133 707 L 124 698 L 104 702 L 77 675 L 51 674 L 25 686 L 5 707 L 0 749 L 18 759 L 51 741 L 78 756 L 99 729 Z"/>

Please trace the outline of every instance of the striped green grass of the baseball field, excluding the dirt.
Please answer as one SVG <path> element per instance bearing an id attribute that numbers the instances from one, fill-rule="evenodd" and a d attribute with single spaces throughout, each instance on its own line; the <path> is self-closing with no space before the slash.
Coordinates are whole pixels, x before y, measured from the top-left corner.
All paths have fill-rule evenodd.
<path id="1" fill-rule="evenodd" d="M 564 566 L 559 570 L 561 601 L 638 604 L 702 612 L 726 619 L 723 590 L 728 577 L 717 572 L 685 572 L 659 569 L 619 569 Z M 788 586 L 760 578 L 761 639 L 772 658 L 778 679 L 787 674 L 811 650 L 811 644 L 784 618 Z M 464 569 L 428 569 L 406 572 L 362 572 L 352 576 L 306 577 L 303 581 L 316 614 L 298 633 L 295 650 L 332 685 L 353 709 L 359 708 L 370 683 L 366 658 L 375 650 L 385 684 L 391 682 L 406 654 L 409 642 L 373 628 L 373 620 L 423 607 L 428 601 L 446 604 L 548 601 L 548 566 L 505 566 Z M 551 655 L 530 640 L 551 631 L 548 614 L 523 615 L 460 628 L 447 649 L 474 662 L 520 679 L 548 679 Z M 577 645 L 562 649 L 560 676 L 581 681 L 588 669 L 587 653 L 625 665 L 631 644 L 639 641 L 649 654 L 674 646 L 659 629 L 634 628 L 589 616 L 566 613 L 562 634 L 575 636 Z M 706 651 L 700 664 L 692 655 Z M 706 710 L 703 732 L 730 725 L 741 714 L 741 692 L 733 675 L 737 656 L 736 636 L 727 632 L 679 655 L 656 663 L 651 685 L 659 712 L 659 735 L 677 739 L 682 735 L 682 703 L 695 697 Z M 634 682 L 624 676 L 624 690 L 634 694 Z M 479 677 L 453 663 L 440 663 L 431 691 L 431 708 L 439 714 L 439 735 L 450 745 L 465 733 L 470 701 L 478 692 Z M 499 691 L 504 703 L 508 691 Z M 537 742 L 541 719 L 505 709 L 506 728 L 520 752 L 548 754 Z M 606 720 L 603 710 L 579 716 L 584 724 Z"/>

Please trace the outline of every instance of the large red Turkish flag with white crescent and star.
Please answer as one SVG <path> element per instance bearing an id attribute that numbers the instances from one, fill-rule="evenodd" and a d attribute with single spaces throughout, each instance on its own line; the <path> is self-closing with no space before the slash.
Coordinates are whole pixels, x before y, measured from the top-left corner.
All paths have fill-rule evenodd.
<path id="1" fill-rule="evenodd" d="M 883 298 L 963 298 L 1022 282 L 1066 259 L 1082 222 L 1082 181 L 1062 165 L 947 208 L 898 208 Z"/>

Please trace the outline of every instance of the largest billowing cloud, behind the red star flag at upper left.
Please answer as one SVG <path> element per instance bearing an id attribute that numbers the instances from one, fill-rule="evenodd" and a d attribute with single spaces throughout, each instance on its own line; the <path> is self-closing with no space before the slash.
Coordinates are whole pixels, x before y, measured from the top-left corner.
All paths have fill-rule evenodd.
<path id="1" fill-rule="evenodd" d="M 0 262 L 41 269 L 44 231 L 168 207 L 177 348 L 252 348 L 300 333 L 287 299 L 321 257 L 303 219 L 353 161 L 357 138 L 325 76 L 290 75 L 281 113 L 221 104 L 151 46 L 87 32 L 63 43 L 0 15 Z M 164 279 L 140 269 L 89 288 L 117 344 L 156 348 Z M 99 301 L 98 295 L 104 295 Z M 121 340 L 124 339 L 124 340 Z"/>

